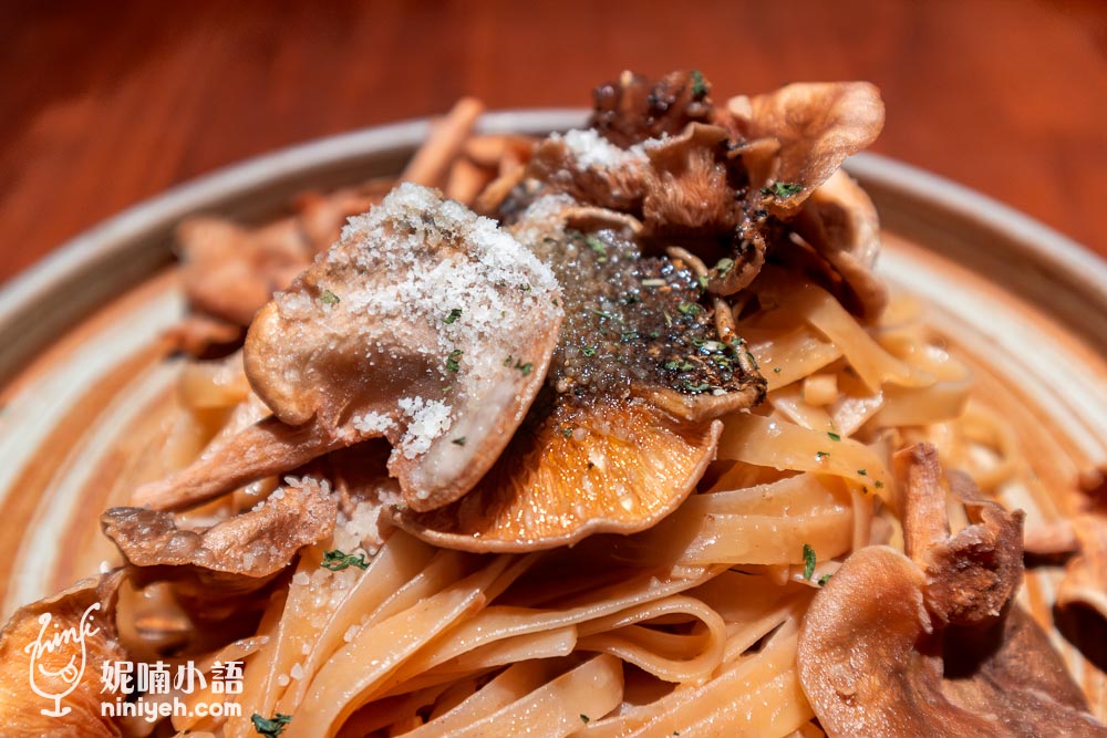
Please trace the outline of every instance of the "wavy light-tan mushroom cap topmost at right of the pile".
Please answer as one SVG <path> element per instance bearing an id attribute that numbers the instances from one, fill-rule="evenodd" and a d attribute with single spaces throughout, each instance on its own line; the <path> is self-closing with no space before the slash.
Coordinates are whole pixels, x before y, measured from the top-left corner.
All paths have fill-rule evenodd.
<path id="1" fill-rule="evenodd" d="M 876 141 L 884 124 L 884 106 L 868 82 L 800 83 L 753 98 L 734 97 L 716 117 L 742 139 L 778 142 L 774 166 L 763 176 L 779 186 L 768 188 L 764 205 L 787 217 L 846 157 Z M 770 183 L 751 184 L 756 188 Z"/>

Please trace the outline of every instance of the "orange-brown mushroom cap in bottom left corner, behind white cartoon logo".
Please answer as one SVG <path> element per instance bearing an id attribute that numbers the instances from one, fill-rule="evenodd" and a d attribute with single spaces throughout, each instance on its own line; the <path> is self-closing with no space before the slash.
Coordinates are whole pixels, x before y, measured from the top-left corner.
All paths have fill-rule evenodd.
<path id="1" fill-rule="evenodd" d="M 82 580 L 60 594 L 21 607 L 8 621 L 0 632 L 4 736 L 121 735 L 113 720 L 101 715 L 101 705 L 125 695 L 105 686 L 101 675 L 105 664 L 127 661 L 114 617 L 122 580 L 122 571 Z M 54 709 L 54 700 L 41 695 L 61 696 L 65 714 L 46 715 Z"/>

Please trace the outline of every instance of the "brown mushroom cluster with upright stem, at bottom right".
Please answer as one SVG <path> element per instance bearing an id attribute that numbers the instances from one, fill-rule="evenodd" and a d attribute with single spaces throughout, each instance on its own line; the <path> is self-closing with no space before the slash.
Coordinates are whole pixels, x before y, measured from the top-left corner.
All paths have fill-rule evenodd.
<path id="1" fill-rule="evenodd" d="M 1107 734 L 1012 602 L 1022 516 L 955 479 L 972 524 L 950 537 L 937 451 L 918 446 L 897 461 L 910 558 L 887 547 L 853 553 L 804 620 L 800 680 L 827 734 Z"/>

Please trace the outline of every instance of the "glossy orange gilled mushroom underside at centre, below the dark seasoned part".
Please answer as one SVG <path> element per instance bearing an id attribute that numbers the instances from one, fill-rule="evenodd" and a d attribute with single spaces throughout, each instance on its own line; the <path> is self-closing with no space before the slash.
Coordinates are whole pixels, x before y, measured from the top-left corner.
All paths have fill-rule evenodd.
<path id="1" fill-rule="evenodd" d="M 457 502 L 390 510 L 423 540 L 465 551 L 532 551 L 632 533 L 672 512 L 715 456 L 718 420 L 676 420 L 642 401 L 560 406 L 524 427 Z"/>

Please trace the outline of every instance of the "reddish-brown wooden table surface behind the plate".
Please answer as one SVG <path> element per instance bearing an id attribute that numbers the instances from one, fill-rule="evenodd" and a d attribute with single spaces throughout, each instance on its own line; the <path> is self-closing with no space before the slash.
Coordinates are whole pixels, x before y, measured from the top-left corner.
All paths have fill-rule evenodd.
<path id="1" fill-rule="evenodd" d="M 1107 256 L 1107 2 L 28 0 L 0 8 L 0 280 L 247 156 L 445 111 L 584 106 L 622 69 L 716 96 L 877 83 L 873 150 Z"/>

